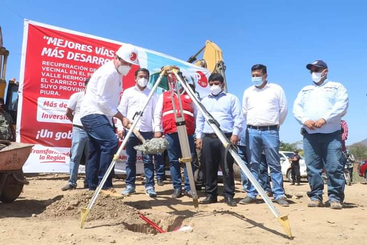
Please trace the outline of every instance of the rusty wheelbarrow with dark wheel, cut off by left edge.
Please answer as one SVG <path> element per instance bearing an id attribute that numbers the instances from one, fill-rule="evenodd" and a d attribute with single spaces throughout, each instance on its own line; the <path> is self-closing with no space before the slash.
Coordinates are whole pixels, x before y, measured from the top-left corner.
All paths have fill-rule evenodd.
<path id="1" fill-rule="evenodd" d="M 33 144 L 0 140 L 0 201 L 11 203 L 17 199 L 24 185 L 22 167 L 31 154 Z"/>

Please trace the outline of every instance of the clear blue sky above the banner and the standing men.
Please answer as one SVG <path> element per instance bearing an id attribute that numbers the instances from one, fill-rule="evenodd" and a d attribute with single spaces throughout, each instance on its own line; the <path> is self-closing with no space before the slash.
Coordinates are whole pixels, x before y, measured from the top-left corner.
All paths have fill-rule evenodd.
<path id="1" fill-rule="evenodd" d="M 229 91 L 242 100 L 251 66 L 268 66 L 269 82 L 285 91 L 285 142 L 301 140 L 292 114 L 305 65 L 323 59 L 328 78 L 348 89 L 344 117 L 351 144 L 367 138 L 367 18 L 365 1 L 17 1 L 3 0 L 0 25 L 10 51 L 7 79 L 19 78 L 23 18 L 133 43 L 187 60 L 212 40 L 227 66 Z M 62 3 L 62 4 L 59 4 Z"/>

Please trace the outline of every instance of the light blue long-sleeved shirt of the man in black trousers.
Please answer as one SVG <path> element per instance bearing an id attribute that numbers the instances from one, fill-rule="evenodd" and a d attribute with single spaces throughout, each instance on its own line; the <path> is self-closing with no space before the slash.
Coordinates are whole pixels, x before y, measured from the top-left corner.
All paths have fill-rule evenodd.
<path id="1" fill-rule="evenodd" d="M 220 129 L 224 133 L 232 133 L 239 136 L 244 123 L 244 117 L 238 97 L 222 91 L 217 96 L 209 94 L 207 97 L 204 97 L 201 104 L 219 122 Z M 201 112 L 198 112 L 196 117 L 196 137 L 202 138 L 203 133 L 212 134 L 214 131 L 205 121 Z"/>

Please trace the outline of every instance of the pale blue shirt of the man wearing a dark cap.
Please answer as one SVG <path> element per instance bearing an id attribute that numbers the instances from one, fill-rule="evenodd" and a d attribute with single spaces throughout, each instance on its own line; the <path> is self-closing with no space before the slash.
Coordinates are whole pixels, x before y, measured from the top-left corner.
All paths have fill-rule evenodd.
<path id="1" fill-rule="evenodd" d="M 340 130 L 340 120 L 347 113 L 347 108 L 347 89 L 340 83 L 326 79 L 322 85 L 308 85 L 298 93 L 293 105 L 293 114 L 301 125 L 309 119 L 324 118 L 326 124 L 321 128 L 303 128 L 309 134 L 328 134 Z"/>

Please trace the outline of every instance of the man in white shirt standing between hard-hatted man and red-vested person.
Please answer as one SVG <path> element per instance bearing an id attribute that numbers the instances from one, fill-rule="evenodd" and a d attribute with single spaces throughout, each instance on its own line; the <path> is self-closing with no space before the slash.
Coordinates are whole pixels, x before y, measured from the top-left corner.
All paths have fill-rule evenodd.
<path id="1" fill-rule="evenodd" d="M 135 86 L 124 90 L 122 94 L 120 105 L 117 109 L 130 121 L 133 121 L 134 115 L 141 111 L 148 101 L 148 95 L 150 93 L 150 89 L 146 87 L 148 80 L 149 70 L 145 68 L 138 69 L 135 72 Z M 153 94 L 135 127 L 145 139 L 151 139 L 153 137 L 153 116 L 157 100 L 157 96 Z M 119 126 L 119 136 L 122 131 L 122 126 Z M 131 134 L 126 143 L 126 189 L 122 191 L 123 195 L 135 193 L 137 151 L 134 149 L 134 146 L 138 144 L 141 144 L 140 139 L 134 133 Z M 152 155 L 143 154 L 142 157 L 146 194 L 149 195 L 149 197 L 156 197 L 156 192 L 154 191 L 154 164 Z"/>

